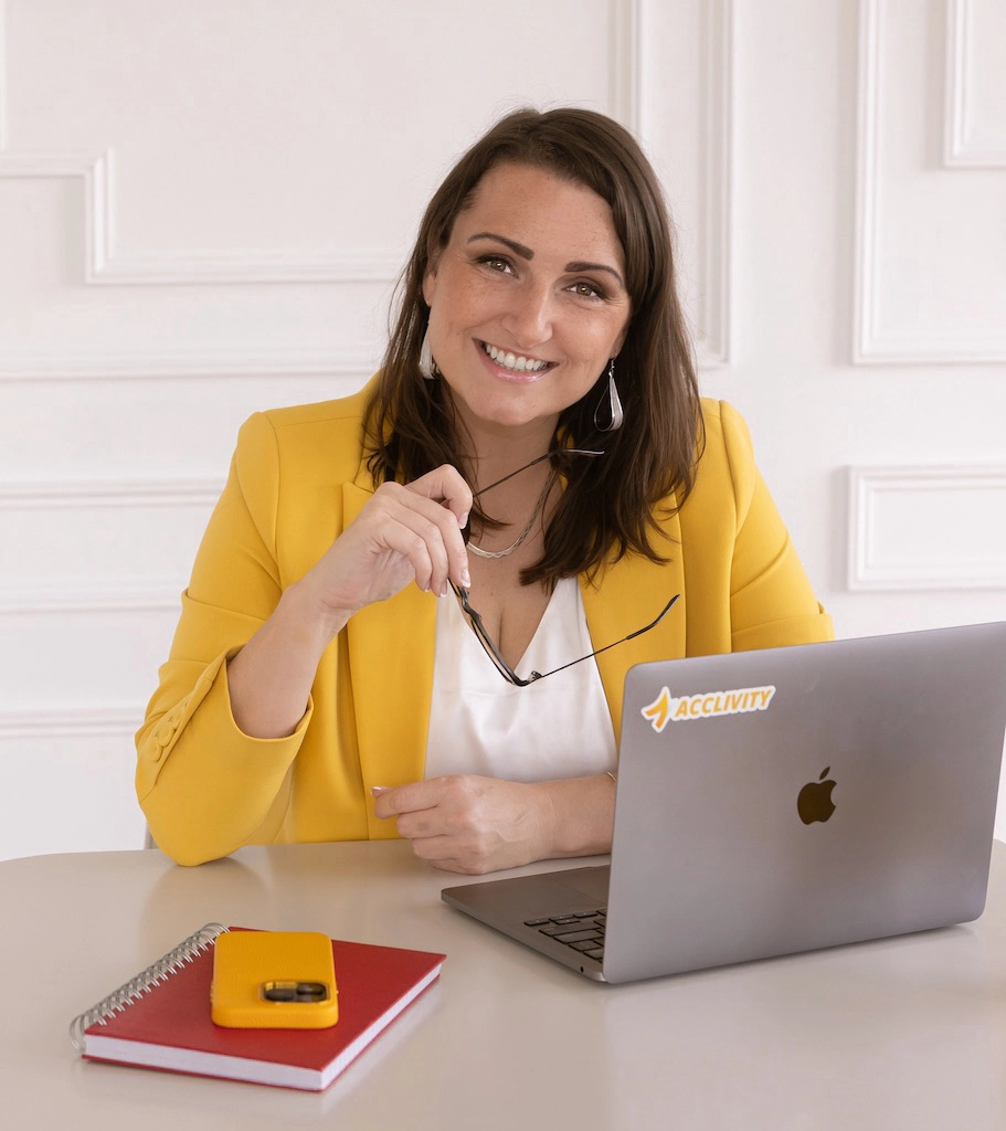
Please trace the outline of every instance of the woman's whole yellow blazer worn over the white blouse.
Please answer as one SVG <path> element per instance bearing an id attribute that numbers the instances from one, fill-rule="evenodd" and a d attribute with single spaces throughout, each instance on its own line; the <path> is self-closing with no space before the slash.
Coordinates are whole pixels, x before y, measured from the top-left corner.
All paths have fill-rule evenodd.
<path id="1" fill-rule="evenodd" d="M 229 708 L 227 658 L 374 491 L 362 446 L 366 391 L 259 413 L 241 429 L 137 733 L 140 805 L 179 863 L 245 844 L 393 837 L 394 822 L 374 817 L 371 786 L 423 777 L 437 598 L 414 585 L 356 613 L 332 641 L 293 735 L 251 739 Z M 616 736 L 633 664 L 832 637 L 743 420 L 725 403 L 703 408 L 695 489 L 661 520 L 673 539 L 661 552 L 673 560 L 631 556 L 581 582 L 595 648 L 682 595 L 658 628 L 597 658 Z"/>

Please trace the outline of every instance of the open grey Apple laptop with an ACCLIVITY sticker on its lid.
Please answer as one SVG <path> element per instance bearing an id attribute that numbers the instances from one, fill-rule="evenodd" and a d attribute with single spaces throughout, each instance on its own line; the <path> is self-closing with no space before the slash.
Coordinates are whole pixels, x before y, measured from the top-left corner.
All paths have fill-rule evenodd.
<path id="1" fill-rule="evenodd" d="M 965 923 L 1004 732 L 1006 622 L 640 664 L 610 865 L 442 896 L 615 983 Z"/>

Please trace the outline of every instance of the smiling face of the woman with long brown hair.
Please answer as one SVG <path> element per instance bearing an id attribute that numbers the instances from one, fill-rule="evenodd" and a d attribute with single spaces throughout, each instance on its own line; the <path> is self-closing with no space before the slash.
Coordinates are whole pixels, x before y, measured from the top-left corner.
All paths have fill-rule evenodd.
<path id="1" fill-rule="evenodd" d="M 485 174 L 423 295 L 433 357 L 475 437 L 550 438 L 622 348 L 631 313 L 607 202 L 529 165 Z"/>

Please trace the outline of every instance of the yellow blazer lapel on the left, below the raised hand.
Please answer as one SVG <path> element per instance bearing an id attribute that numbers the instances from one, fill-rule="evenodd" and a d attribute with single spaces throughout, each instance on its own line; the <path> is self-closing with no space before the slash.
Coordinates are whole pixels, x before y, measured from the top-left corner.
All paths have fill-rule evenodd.
<path id="1" fill-rule="evenodd" d="M 373 495 L 361 469 L 342 485 L 344 529 Z M 364 791 L 405 785 L 423 777 L 433 694 L 436 598 L 414 584 L 396 596 L 367 605 L 346 625 L 356 706 L 356 731 Z M 379 821 L 367 804 L 372 839 L 397 836 L 393 821 Z"/>

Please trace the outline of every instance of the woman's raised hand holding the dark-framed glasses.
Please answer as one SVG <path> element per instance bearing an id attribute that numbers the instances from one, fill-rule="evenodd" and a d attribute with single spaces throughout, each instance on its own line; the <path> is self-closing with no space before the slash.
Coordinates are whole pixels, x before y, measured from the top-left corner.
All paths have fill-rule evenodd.
<path id="1" fill-rule="evenodd" d="M 467 588 L 461 530 L 470 509 L 471 490 L 448 464 L 411 483 L 382 483 L 304 576 L 312 606 L 337 632 L 355 612 L 413 580 L 437 595 L 448 579 Z"/>

